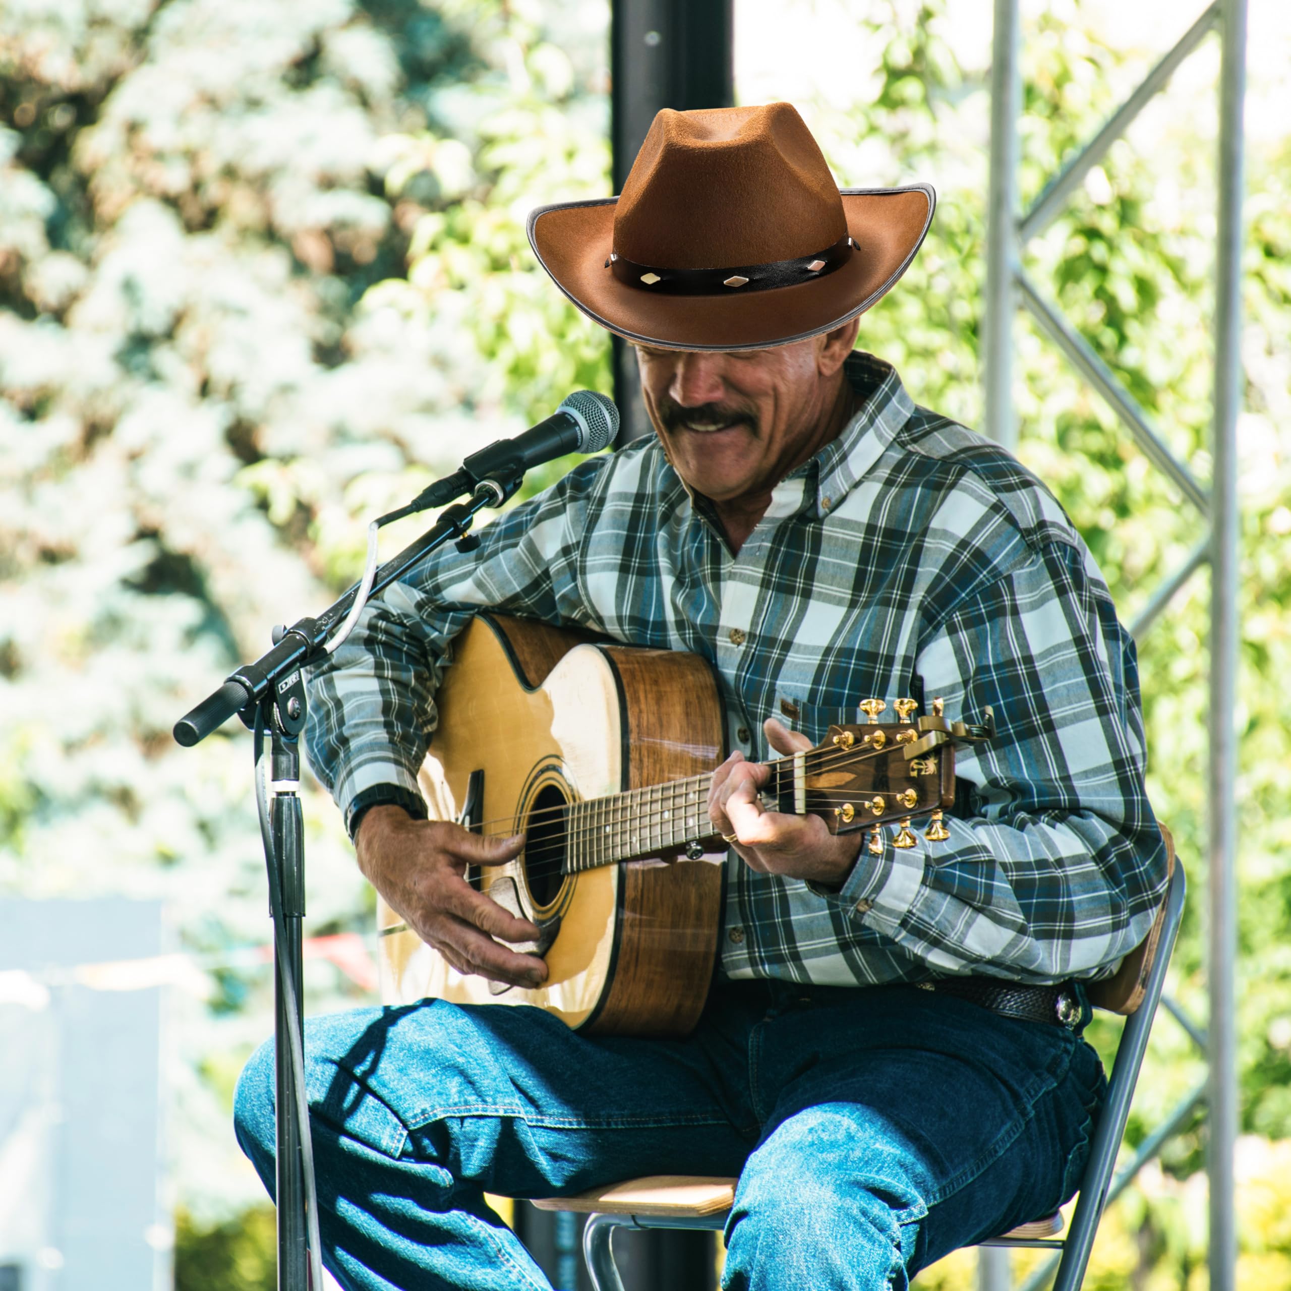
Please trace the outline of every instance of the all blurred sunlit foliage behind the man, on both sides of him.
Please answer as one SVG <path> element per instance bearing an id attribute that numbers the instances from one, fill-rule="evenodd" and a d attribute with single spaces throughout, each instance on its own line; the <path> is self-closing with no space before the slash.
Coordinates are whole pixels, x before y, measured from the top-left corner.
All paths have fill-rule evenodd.
<path id="1" fill-rule="evenodd" d="M 247 740 L 230 729 L 179 751 L 170 723 L 267 644 L 269 624 L 354 576 L 365 516 L 567 391 L 609 389 L 604 336 L 524 239 L 533 205 L 608 192 L 607 9 L 0 8 L 0 889 L 161 895 L 183 946 L 207 955 L 263 937 Z M 879 0 L 865 25 L 874 61 L 852 101 L 799 107 L 840 183 L 932 178 L 940 207 L 861 343 L 892 359 L 919 402 L 972 425 L 984 79 L 961 67 L 940 0 Z M 1077 5 L 1032 13 L 1025 31 L 1024 200 L 1124 80 Z M 1026 261 L 1203 480 L 1212 119 L 1208 98 L 1149 112 Z M 1288 137 L 1252 147 L 1248 172 L 1242 1277 L 1274 1288 L 1291 1287 L 1291 697 L 1278 684 L 1291 639 Z M 1201 522 L 1025 321 L 1016 342 L 1021 456 L 1132 621 Z M 411 527 L 391 542 L 404 536 Z M 1202 573 L 1140 642 L 1153 800 L 1192 878 L 1175 989 L 1194 1016 L 1206 635 Z M 369 895 L 312 788 L 306 815 L 310 931 L 367 931 Z M 363 998 L 323 963 L 309 988 L 311 1008 Z M 240 1061 L 269 1029 L 267 989 L 263 973 L 230 967 L 174 1010 L 182 1285 L 265 1278 L 263 1211 L 232 1217 L 257 1185 L 227 1112 Z M 1132 1136 L 1201 1074 L 1162 1021 Z M 1132 1190 L 1105 1225 L 1091 1285 L 1198 1285 L 1203 1143 L 1190 1127 Z M 920 1285 L 968 1277 L 951 1260 Z"/>

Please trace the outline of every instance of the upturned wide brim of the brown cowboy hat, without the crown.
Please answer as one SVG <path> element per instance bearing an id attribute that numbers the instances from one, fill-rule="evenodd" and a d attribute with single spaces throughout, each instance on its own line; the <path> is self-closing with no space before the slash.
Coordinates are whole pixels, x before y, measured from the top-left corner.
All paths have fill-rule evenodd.
<path id="1" fill-rule="evenodd" d="M 744 296 L 652 296 L 605 267 L 617 198 L 540 207 L 529 244 L 556 287 L 590 319 L 627 341 L 667 350 L 759 350 L 829 332 L 879 301 L 923 243 L 932 185 L 843 188 L 853 249 L 822 278 Z M 720 266 L 714 266 L 720 267 Z"/>

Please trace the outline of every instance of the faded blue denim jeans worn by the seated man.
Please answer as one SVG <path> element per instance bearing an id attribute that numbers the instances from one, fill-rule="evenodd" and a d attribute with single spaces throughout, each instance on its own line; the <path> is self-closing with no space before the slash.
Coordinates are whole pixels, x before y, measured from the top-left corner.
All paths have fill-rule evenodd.
<path id="1" fill-rule="evenodd" d="M 324 1259 L 350 1291 L 546 1288 L 484 1193 L 738 1175 L 723 1286 L 904 1288 L 1075 1190 L 1093 1050 L 909 988 L 718 985 L 688 1039 L 426 1001 L 306 1025 Z M 236 1128 L 274 1186 L 274 1055 Z"/>

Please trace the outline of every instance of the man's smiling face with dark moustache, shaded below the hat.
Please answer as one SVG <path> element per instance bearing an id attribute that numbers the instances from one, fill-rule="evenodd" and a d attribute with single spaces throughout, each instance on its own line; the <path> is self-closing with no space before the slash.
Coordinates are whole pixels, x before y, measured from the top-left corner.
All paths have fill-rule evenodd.
<path id="1" fill-rule="evenodd" d="M 715 502 L 766 494 L 820 447 L 855 337 L 852 324 L 773 350 L 636 346 L 646 409 L 682 479 Z"/>

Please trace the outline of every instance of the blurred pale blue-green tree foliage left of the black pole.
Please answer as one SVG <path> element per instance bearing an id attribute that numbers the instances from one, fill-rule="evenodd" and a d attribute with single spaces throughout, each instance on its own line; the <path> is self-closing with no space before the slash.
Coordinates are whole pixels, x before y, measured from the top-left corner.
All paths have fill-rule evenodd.
<path id="1" fill-rule="evenodd" d="M 5 891 L 161 895 L 216 958 L 265 937 L 245 736 L 179 750 L 170 724 L 341 590 L 373 507 L 608 385 L 604 338 L 523 232 L 531 200 L 607 183 L 605 21 L 0 6 Z M 367 931 L 337 813 L 307 790 L 310 928 Z M 307 977 L 311 1008 L 365 998 L 325 963 Z M 230 966 L 176 1011 L 190 1237 L 262 1197 L 229 1105 L 267 990 Z"/>

